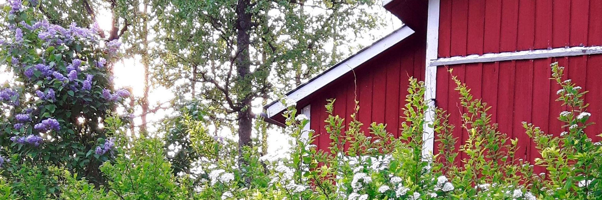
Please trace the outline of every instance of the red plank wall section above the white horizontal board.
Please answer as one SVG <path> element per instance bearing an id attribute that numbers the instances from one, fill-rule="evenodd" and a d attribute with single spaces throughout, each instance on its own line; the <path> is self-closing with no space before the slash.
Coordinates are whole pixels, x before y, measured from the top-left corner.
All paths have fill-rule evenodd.
<path id="1" fill-rule="evenodd" d="M 602 45 L 601 0 L 441 0 L 439 57 Z"/>

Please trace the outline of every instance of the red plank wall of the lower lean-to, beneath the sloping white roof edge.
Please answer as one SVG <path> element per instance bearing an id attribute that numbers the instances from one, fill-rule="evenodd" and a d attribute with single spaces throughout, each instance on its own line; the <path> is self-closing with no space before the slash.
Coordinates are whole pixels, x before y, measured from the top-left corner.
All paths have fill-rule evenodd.
<path id="1" fill-rule="evenodd" d="M 371 122 L 386 123 L 388 132 L 399 135 L 399 116 L 402 115 L 400 106 L 405 105 L 408 79 L 414 76 L 424 80 L 424 41 L 424 36 L 412 35 L 356 68 L 355 83 L 353 74 L 346 74 L 308 97 L 311 102 L 297 103 L 300 109 L 311 105 L 310 127 L 320 135 L 314 144 L 322 150 L 330 145 L 329 136 L 324 129 L 324 120 L 328 116 L 324 108 L 326 100 L 337 99 L 334 113 L 345 118 L 345 124 L 349 124 L 349 116 L 354 112 L 355 95 L 360 107 L 358 120 L 364 123 L 367 135 Z"/>

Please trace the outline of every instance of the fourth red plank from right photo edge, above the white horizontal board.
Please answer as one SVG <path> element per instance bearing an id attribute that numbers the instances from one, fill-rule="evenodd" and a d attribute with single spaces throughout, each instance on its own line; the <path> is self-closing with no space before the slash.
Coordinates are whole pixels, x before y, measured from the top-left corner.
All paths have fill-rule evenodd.
<path id="1" fill-rule="evenodd" d="M 553 0 L 535 1 L 535 49 L 552 46 L 552 3 Z"/>

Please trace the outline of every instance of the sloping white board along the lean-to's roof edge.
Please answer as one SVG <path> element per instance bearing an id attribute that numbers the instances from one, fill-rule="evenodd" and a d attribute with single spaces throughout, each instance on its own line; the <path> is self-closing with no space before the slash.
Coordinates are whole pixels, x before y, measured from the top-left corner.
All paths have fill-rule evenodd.
<path id="1" fill-rule="evenodd" d="M 323 88 L 328 83 L 338 79 L 339 77 L 355 69 L 359 65 L 364 64 L 364 62 L 368 61 L 371 58 L 374 58 L 374 56 L 379 55 L 386 49 L 389 49 L 389 47 L 399 43 L 400 41 L 412 34 L 414 34 L 414 30 L 412 30 L 408 26 L 403 26 L 402 28 L 397 29 L 397 31 L 391 33 L 385 38 L 382 38 L 381 40 L 367 47 L 366 49 L 361 50 L 361 52 L 357 53 L 356 55 L 352 55 L 345 61 L 334 65 L 328 71 L 321 74 L 321 76 L 318 76 L 313 80 L 309 80 L 309 82 L 301 85 L 299 88 L 296 88 L 296 90 L 294 90 L 291 94 L 288 94 L 286 97 L 295 103 L 299 102 L 299 100 L 307 97 L 309 94 L 312 94 L 315 91 L 318 91 L 318 89 Z M 268 118 L 272 118 L 274 117 L 274 115 L 277 115 L 281 111 L 284 111 L 284 109 L 286 109 L 286 107 L 282 104 L 281 101 L 278 101 L 273 105 L 269 106 L 266 109 L 265 114 Z"/>

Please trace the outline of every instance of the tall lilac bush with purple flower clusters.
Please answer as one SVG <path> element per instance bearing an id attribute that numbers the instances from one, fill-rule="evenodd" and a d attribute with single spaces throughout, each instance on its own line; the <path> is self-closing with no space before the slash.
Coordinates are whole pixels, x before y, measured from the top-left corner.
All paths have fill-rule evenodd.
<path id="1" fill-rule="evenodd" d="M 111 157 L 95 154 L 95 147 L 104 144 L 106 153 L 112 146 L 99 125 L 129 97 L 110 80 L 121 43 L 102 40 L 96 24 L 54 25 L 37 6 L 10 0 L 5 8 L 11 34 L 0 40 L 0 62 L 15 78 L 0 88 L 0 156 L 101 181 L 98 167 Z"/>

